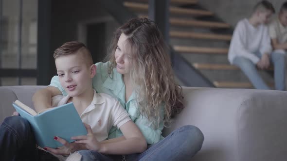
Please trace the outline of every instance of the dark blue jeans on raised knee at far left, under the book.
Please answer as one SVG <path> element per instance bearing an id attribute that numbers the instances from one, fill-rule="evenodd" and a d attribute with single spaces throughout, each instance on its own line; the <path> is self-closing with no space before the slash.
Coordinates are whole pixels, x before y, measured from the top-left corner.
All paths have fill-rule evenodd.
<path id="1" fill-rule="evenodd" d="M 29 122 L 20 116 L 4 119 L 0 126 L 0 161 L 58 161 L 36 147 Z"/>

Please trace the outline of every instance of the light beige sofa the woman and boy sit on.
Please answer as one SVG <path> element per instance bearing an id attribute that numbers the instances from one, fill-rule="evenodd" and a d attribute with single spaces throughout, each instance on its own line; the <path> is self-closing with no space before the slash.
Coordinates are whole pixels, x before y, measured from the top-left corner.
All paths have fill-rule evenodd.
<path id="1" fill-rule="evenodd" d="M 19 99 L 32 106 L 33 93 L 44 86 L 0 87 L 0 121 Z M 205 140 L 193 161 L 286 161 L 287 92 L 184 87 L 186 108 L 173 129 L 192 124 Z M 1 132 L 1 131 L 0 131 Z"/>

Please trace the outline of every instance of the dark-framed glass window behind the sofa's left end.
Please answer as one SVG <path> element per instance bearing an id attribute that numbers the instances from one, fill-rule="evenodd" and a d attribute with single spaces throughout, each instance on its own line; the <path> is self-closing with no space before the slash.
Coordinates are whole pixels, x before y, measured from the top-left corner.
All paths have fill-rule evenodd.
<path id="1" fill-rule="evenodd" d="M 36 69 L 38 0 L 0 0 L 0 3 L 0 68 Z M 36 85 L 35 80 L 5 77 L 0 79 L 0 85 Z"/>

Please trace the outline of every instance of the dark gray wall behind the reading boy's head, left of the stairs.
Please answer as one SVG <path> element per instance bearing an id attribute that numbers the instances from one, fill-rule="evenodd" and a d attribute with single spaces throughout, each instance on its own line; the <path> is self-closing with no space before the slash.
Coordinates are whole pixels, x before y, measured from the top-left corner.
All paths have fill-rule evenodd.
<path id="1" fill-rule="evenodd" d="M 68 41 L 81 41 L 85 43 L 85 33 L 79 35 L 79 27 L 85 28 L 87 24 L 103 22 L 106 23 L 106 46 L 104 48 L 107 48 L 112 33 L 118 26 L 115 20 L 101 7 L 98 0 L 52 0 L 51 8 L 52 51 Z M 106 55 L 106 52 L 93 54 Z M 53 69 L 50 73 L 51 78 L 56 74 L 52 55 L 53 53 L 51 53 L 50 60 L 53 64 Z"/>

